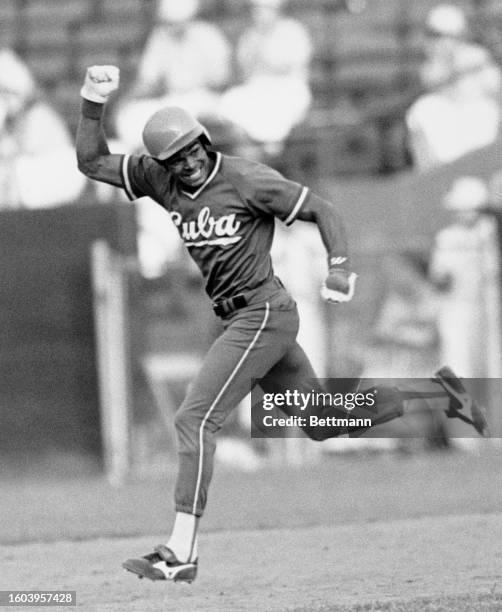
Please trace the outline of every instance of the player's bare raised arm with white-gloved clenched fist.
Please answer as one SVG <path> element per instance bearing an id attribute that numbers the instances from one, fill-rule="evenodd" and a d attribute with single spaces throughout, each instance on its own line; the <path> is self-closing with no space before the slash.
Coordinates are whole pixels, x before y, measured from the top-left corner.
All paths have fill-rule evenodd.
<path id="1" fill-rule="evenodd" d="M 77 130 L 78 167 L 91 179 L 122 186 L 122 155 L 112 155 L 103 129 L 104 107 L 108 96 L 118 89 L 116 66 L 91 66 L 81 89 L 82 112 Z"/>

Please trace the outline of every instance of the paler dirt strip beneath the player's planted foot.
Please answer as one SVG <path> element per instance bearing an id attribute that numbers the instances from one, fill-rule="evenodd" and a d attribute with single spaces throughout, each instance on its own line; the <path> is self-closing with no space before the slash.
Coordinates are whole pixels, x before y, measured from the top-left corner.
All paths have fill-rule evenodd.
<path id="1" fill-rule="evenodd" d="M 149 550 L 152 537 L 35 543 L 4 547 L 1 582 L 76 590 L 78 607 L 89 612 L 377 610 L 396 602 L 423 610 L 413 602 L 458 604 L 462 594 L 502 606 L 501 541 L 502 514 L 204 534 L 192 585 L 121 570 L 120 561 Z"/>

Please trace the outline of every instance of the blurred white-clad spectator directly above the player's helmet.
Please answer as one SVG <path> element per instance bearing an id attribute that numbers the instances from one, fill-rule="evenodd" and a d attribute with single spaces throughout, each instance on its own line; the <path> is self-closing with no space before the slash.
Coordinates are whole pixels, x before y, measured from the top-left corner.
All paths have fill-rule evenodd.
<path id="1" fill-rule="evenodd" d="M 229 83 L 231 49 L 216 25 L 195 19 L 198 10 L 198 0 L 158 2 L 136 83 L 117 111 L 117 134 L 129 151 L 141 146 L 142 126 L 163 106 L 197 116 L 215 112 Z"/>

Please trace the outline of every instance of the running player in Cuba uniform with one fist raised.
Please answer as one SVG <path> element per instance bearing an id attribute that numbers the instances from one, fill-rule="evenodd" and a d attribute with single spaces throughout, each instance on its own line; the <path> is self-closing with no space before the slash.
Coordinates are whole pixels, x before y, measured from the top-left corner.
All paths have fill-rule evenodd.
<path id="1" fill-rule="evenodd" d="M 152 553 L 123 564 L 141 578 L 191 582 L 197 573 L 197 528 L 212 475 L 215 434 L 225 418 L 250 391 L 252 379 L 266 377 L 263 390 L 271 393 L 322 391 L 296 342 L 296 304 L 272 270 L 275 218 L 286 225 L 307 221 L 319 228 L 328 257 L 321 290 L 325 300 L 349 302 L 356 275 L 350 270 L 340 215 L 330 202 L 267 166 L 214 151 L 204 127 L 181 108 L 164 108 L 148 120 L 143 131 L 147 155 L 110 154 L 103 112 L 118 85 L 117 67 L 88 68 L 77 134 L 79 168 L 92 179 L 122 187 L 131 200 L 150 196 L 170 213 L 224 326 L 176 414 L 172 533 Z M 373 425 L 401 416 L 414 400 L 428 396 L 444 400 L 448 416 L 486 432 L 480 409 L 448 368 L 427 385 L 420 393 L 380 388 Z M 471 417 L 465 415 L 469 409 Z M 315 410 L 340 416 L 332 406 Z M 284 411 L 293 413 L 286 406 Z M 358 433 L 357 428 L 335 426 L 304 431 L 315 440 Z"/>

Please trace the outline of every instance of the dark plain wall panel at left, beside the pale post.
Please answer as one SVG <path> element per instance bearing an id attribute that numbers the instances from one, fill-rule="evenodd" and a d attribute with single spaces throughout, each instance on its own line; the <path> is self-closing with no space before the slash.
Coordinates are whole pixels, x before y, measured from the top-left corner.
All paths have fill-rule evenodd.
<path id="1" fill-rule="evenodd" d="M 0 213 L 0 456 L 101 454 L 91 244 L 136 252 L 132 206 Z"/>

